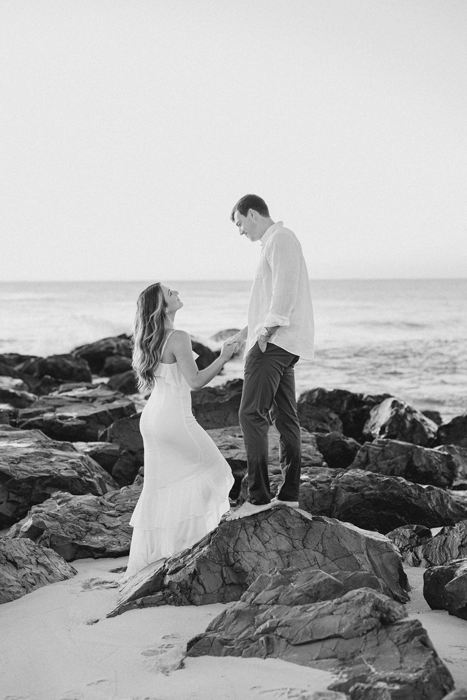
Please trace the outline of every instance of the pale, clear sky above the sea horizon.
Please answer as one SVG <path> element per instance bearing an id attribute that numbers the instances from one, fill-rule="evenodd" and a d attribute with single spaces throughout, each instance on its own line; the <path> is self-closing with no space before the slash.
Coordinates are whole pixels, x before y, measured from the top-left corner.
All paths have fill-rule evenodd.
<path id="1" fill-rule="evenodd" d="M 0 0 L 0 277 L 467 276 L 465 0 Z"/>

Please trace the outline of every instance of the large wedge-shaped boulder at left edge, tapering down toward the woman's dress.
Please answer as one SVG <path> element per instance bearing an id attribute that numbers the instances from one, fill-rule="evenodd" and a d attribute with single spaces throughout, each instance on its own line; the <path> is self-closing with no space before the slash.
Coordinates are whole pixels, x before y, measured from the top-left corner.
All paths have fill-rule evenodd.
<path id="1" fill-rule="evenodd" d="M 0 528 L 58 489 L 96 496 L 116 489 L 110 475 L 73 444 L 48 440 L 40 431 L 18 432 L 1 431 Z"/>

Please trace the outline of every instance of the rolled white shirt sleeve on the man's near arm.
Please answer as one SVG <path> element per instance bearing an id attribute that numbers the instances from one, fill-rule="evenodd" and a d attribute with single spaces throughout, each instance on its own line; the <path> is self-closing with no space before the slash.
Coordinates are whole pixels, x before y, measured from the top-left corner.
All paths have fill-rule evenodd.
<path id="1" fill-rule="evenodd" d="M 301 250 L 286 233 L 277 232 L 267 250 L 272 273 L 272 298 L 264 325 L 290 325 L 297 302 Z"/>

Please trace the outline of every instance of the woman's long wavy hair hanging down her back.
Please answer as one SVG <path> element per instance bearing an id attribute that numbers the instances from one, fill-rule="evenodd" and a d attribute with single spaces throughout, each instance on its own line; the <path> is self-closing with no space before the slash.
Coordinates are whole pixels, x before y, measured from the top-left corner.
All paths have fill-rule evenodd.
<path id="1" fill-rule="evenodd" d="M 154 371 L 160 363 L 169 317 L 160 282 L 141 292 L 134 319 L 133 369 L 137 374 L 138 390 L 148 391 L 154 386 Z"/>

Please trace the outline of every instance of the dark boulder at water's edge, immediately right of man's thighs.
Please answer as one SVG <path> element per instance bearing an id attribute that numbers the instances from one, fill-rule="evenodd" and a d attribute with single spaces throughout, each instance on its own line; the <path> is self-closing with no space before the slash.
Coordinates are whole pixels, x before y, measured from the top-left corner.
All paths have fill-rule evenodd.
<path id="1" fill-rule="evenodd" d="M 334 416 L 338 416 L 342 428 L 329 428 L 328 430 L 319 430 L 320 433 L 329 433 L 333 430 L 342 432 L 347 437 L 353 437 L 357 442 L 363 442 L 363 426 L 365 426 L 370 410 L 372 407 L 381 403 L 389 394 L 370 395 L 363 393 L 353 393 L 345 389 L 333 389 L 328 391 L 324 388 L 315 388 L 310 391 L 305 391 L 298 399 L 299 414 L 305 413 L 305 407 L 302 404 L 308 405 L 308 410 L 322 409 L 330 411 Z M 307 427 L 305 423 L 301 423 L 304 428 L 314 432 L 311 427 Z"/>

